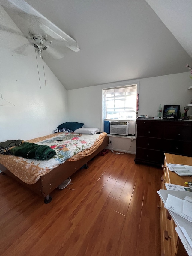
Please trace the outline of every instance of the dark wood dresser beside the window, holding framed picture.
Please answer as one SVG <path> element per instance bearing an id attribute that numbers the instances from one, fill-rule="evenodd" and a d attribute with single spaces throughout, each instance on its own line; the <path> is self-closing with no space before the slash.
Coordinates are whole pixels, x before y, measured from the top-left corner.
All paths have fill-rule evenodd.
<path id="1" fill-rule="evenodd" d="M 135 163 L 161 166 L 164 153 L 190 156 L 192 122 L 170 119 L 137 119 Z"/>

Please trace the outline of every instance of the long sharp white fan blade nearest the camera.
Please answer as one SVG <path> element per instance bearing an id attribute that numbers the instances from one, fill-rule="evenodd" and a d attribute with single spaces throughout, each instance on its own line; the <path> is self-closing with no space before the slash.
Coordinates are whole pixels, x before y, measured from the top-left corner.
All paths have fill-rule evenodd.
<path id="1" fill-rule="evenodd" d="M 25 1 L 7 0 L 1 1 L 1 5 L 30 22 L 34 28 L 40 27 L 52 38 L 67 41 L 65 46 L 71 50 L 75 52 L 80 50 L 73 38 L 59 29 L 55 24 L 53 24 L 50 20 L 44 17 L 41 13 L 39 13 Z"/>

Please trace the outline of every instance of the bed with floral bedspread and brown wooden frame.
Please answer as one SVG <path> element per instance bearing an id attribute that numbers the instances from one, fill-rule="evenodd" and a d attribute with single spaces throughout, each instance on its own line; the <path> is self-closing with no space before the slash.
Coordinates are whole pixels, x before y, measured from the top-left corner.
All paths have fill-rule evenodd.
<path id="1" fill-rule="evenodd" d="M 57 141 L 60 139 L 61 141 Z M 28 140 L 48 145 L 56 151 L 49 160 L 26 159 L 15 155 L 0 154 L 0 170 L 25 185 L 49 203 L 49 194 L 64 180 L 87 167 L 87 162 L 105 149 L 109 143 L 107 133 L 77 134 L 60 132 Z"/>

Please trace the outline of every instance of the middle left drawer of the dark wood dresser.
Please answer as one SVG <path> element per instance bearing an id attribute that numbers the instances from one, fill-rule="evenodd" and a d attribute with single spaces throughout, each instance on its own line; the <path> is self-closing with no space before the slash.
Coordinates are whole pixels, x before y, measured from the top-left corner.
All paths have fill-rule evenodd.
<path id="1" fill-rule="evenodd" d="M 162 150 L 162 140 L 150 137 L 137 137 L 137 147 L 145 149 Z"/>

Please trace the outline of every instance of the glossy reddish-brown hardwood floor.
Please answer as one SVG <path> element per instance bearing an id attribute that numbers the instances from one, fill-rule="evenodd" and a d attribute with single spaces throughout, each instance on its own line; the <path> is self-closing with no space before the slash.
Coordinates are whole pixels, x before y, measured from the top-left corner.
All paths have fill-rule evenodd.
<path id="1" fill-rule="evenodd" d="M 96 156 L 49 204 L 1 174 L 1 256 L 160 256 L 162 170 L 134 158 Z"/>

